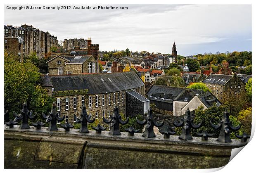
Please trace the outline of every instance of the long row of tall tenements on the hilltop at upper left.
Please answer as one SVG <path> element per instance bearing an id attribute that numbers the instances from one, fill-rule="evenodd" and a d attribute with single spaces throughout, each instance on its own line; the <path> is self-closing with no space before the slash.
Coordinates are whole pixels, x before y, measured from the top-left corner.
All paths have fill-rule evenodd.
<path id="1" fill-rule="evenodd" d="M 31 53 L 36 53 L 36 56 L 45 57 L 50 52 L 51 47 L 58 47 L 59 42 L 56 36 L 52 36 L 48 32 L 40 31 L 32 25 L 21 25 L 19 27 L 5 25 L 5 37 L 21 37 L 23 43 L 24 57 Z"/>

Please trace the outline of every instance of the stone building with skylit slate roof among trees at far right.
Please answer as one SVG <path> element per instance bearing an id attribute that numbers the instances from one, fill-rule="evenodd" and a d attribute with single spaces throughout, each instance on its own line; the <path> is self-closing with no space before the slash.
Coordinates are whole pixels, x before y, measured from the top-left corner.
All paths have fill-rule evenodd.
<path id="1" fill-rule="evenodd" d="M 245 90 L 244 82 L 236 75 L 211 74 L 202 81 L 218 100 L 223 100 L 224 94 L 239 93 Z"/>

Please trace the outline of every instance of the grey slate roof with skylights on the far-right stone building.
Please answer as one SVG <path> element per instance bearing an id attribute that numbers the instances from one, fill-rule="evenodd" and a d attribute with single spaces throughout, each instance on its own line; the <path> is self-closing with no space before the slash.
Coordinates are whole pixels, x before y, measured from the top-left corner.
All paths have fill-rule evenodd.
<path id="1" fill-rule="evenodd" d="M 211 74 L 202 81 L 202 83 L 211 83 L 218 85 L 225 85 L 233 76 L 225 74 Z"/>

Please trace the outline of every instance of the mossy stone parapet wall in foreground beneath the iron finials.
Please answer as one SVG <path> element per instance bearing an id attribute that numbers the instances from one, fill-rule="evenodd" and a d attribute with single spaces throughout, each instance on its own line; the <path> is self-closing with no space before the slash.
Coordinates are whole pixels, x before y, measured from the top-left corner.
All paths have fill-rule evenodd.
<path id="1" fill-rule="evenodd" d="M 71 129 L 48 132 L 45 127 L 20 130 L 5 126 L 5 168 L 218 168 L 228 164 L 232 148 L 246 145 L 240 140 L 220 143 L 216 138 L 201 141 L 164 139 L 156 134 L 144 138 L 128 133 L 112 136 L 87 134 Z"/>

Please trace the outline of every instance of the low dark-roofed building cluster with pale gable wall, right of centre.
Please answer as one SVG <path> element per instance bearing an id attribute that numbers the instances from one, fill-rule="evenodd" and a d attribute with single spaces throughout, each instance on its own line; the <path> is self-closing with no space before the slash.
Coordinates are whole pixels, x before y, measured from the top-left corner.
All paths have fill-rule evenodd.
<path id="1" fill-rule="evenodd" d="M 153 85 L 147 92 L 154 111 L 165 115 L 181 116 L 189 107 L 191 111 L 203 105 L 208 109 L 220 101 L 210 92 L 203 90 Z"/>

